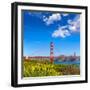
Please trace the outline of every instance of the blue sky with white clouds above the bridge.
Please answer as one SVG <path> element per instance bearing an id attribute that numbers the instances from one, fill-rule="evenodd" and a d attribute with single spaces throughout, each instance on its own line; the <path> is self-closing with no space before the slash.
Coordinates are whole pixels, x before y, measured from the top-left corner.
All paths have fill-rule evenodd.
<path id="1" fill-rule="evenodd" d="M 48 11 L 22 11 L 23 55 L 80 55 L 80 14 Z"/>

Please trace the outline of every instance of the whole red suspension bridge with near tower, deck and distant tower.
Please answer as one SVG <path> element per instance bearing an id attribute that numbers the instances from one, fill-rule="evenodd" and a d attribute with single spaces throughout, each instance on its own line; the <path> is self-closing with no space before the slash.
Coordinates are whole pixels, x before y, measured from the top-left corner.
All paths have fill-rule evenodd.
<path id="1" fill-rule="evenodd" d="M 57 60 L 58 58 L 62 58 L 62 60 L 66 60 L 67 57 L 65 55 L 59 55 L 59 56 L 54 56 L 54 43 L 50 42 L 50 56 L 26 56 L 24 57 L 25 60 L 50 60 L 51 63 L 54 62 L 54 60 Z M 76 56 L 76 53 L 74 52 L 73 56 L 69 56 L 68 59 L 70 60 L 76 60 L 77 58 L 79 58 L 78 56 Z"/>

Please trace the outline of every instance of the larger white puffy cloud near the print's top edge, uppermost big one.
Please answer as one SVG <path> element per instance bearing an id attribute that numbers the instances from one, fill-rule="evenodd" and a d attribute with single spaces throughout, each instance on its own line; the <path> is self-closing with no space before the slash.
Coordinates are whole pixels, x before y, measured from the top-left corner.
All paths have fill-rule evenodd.
<path id="1" fill-rule="evenodd" d="M 47 25 L 50 25 L 50 24 L 53 24 L 53 22 L 55 21 L 59 21 L 61 20 L 61 15 L 59 13 L 56 13 L 56 14 L 52 14 L 51 16 L 49 17 L 43 17 L 43 21 L 47 24 Z"/>

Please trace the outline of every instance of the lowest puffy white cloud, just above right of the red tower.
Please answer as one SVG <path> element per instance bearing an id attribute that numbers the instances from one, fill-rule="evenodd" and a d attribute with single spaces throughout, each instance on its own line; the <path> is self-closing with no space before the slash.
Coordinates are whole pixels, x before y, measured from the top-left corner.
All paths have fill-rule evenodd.
<path id="1" fill-rule="evenodd" d="M 52 34 L 52 37 L 62 37 L 65 38 L 67 36 L 70 36 L 70 33 L 67 29 L 63 29 L 62 27 L 59 27 L 58 30 L 55 30 Z"/>

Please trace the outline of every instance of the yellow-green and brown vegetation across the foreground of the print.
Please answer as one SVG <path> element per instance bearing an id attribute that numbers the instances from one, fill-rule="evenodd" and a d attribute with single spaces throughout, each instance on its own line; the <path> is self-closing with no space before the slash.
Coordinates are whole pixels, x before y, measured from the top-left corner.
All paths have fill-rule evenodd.
<path id="1" fill-rule="evenodd" d="M 76 65 L 51 64 L 47 60 L 23 60 L 24 77 L 79 75 Z"/>

